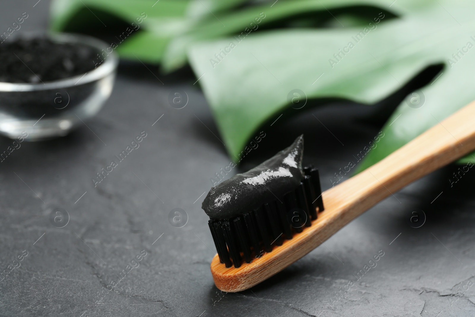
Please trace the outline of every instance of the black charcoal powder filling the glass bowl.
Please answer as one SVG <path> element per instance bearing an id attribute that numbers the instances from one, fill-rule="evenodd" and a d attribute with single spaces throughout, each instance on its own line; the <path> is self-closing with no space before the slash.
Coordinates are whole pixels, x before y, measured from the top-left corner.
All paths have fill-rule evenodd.
<path id="1" fill-rule="evenodd" d="M 82 75 L 94 69 L 99 51 L 43 38 L 18 38 L 0 44 L 0 82 L 38 84 Z"/>

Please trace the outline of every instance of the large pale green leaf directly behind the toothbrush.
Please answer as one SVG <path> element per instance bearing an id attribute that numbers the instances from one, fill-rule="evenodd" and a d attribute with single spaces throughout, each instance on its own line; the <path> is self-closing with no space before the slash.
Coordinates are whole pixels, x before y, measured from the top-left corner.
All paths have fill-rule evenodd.
<path id="1" fill-rule="evenodd" d="M 318 2 L 331 10 L 327 1 Z M 231 157 L 263 123 L 290 108 L 288 94 L 295 89 L 312 100 L 373 104 L 429 65 L 445 65 L 431 84 L 411 95 L 415 100 L 399 105 L 360 170 L 475 99 L 474 3 L 398 0 L 380 8 L 398 18 L 384 21 L 382 13 L 363 27 L 251 32 L 242 41 L 231 37 L 193 45 L 190 64 L 202 76 L 199 82 Z"/>

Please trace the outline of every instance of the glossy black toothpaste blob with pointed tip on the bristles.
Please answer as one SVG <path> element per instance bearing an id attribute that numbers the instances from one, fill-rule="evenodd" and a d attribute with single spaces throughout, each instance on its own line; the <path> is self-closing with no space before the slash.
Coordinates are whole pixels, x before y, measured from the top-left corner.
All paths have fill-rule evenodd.
<path id="1" fill-rule="evenodd" d="M 211 188 L 201 208 L 211 219 L 230 219 L 277 200 L 276 197 L 282 199 L 304 178 L 303 152 L 304 135 L 300 135 L 266 162 Z"/>

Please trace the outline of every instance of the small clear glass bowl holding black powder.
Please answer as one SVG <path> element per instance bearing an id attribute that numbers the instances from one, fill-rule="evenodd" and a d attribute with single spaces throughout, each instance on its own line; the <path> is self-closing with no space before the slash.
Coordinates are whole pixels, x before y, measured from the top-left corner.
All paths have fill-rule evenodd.
<path id="1" fill-rule="evenodd" d="M 93 47 L 99 52 L 108 47 L 99 39 L 77 34 L 21 35 L 25 39 L 45 37 L 57 43 Z M 44 84 L 0 82 L 0 134 L 38 141 L 64 136 L 84 125 L 99 112 L 114 86 L 118 58 L 114 51 L 107 54 L 98 67 L 75 77 Z"/>

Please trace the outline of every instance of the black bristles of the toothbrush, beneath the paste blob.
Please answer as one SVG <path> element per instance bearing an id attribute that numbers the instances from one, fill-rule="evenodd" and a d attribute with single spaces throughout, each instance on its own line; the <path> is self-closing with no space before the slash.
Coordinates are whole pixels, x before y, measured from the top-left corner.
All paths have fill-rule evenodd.
<path id="1" fill-rule="evenodd" d="M 290 240 L 294 233 L 312 225 L 318 211 L 323 211 L 318 169 L 304 168 L 304 179 L 294 191 L 266 202 L 254 211 L 228 220 L 209 220 L 221 263 L 229 268 L 239 268 L 243 258 L 251 263 L 253 255 L 259 258 L 263 250 L 271 252 L 283 240 Z"/>

